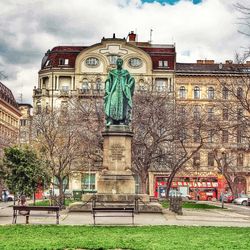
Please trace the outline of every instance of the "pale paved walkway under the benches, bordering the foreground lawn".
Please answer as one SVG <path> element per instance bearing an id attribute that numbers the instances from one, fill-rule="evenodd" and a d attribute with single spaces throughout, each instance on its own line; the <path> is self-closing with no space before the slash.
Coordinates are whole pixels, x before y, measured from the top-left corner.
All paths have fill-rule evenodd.
<path id="1" fill-rule="evenodd" d="M 7 205 L 7 204 L 6 204 Z M 227 205 L 226 205 L 227 206 Z M 12 208 L 0 204 L 0 225 L 12 223 Z M 228 207 L 228 206 L 227 206 Z M 244 214 L 238 210 L 244 211 Z M 244 210 L 245 209 L 245 210 Z M 49 217 L 47 217 L 49 216 Z M 131 225 L 132 219 L 129 217 L 98 217 L 96 223 L 99 225 Z M 24 216 L 19 216 L 18 223 L 25 223 Z M 32 213 L 31 224 L 55 224 L 54 214 L 47 212 Z M 89 212 L 62 211 L 60 215 L 61 225 L 92 225 L 93 218 Z M 163 214 L 140 213 L 135 215 L 135 225 L 186 225 L 186 226 L 235 226 L 250 227 L 250 207 L 237 207 L 227 210 L 210 209 L 183 209 L 183 215 L 175 215 L 169 210 L 164 210 Z"/>

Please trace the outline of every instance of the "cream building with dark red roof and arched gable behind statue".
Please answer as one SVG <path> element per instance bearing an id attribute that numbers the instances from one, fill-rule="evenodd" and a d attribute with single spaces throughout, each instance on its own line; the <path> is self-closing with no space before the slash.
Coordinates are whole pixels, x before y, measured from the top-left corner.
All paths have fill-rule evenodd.
<path id="1" fill-rule="evenodd" d="M 91 46 L 49 50 L 33 92 L 34 115 L 42 109 L 63 108 L 73 97 L 102 97 L 104 82 L 117 58 L 123 59 L 123 68 L 134 76 L 136 91 L 155 90 L 174 97 L 175 46 L 137 42 L 131 32 L 128 40 L 114 35 Z M 82 172 L 72 172 L 69 188 L 97 189 L 92 169 L 88 166 Z"/>

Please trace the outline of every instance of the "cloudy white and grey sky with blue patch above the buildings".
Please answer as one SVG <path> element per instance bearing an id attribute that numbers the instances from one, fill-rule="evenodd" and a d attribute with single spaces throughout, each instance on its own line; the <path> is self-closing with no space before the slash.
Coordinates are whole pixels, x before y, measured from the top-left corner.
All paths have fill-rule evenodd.
<path id="1" fill-rule="evenodd" d="M 32 103 L 44 53 L 57 45 L 91 45 L 101 38 L 175 43 L 178 62 L 234 59 L 250 46 L 238 30 L 234 4 L 249 0 L 0 0 L 1 82 Z"/>

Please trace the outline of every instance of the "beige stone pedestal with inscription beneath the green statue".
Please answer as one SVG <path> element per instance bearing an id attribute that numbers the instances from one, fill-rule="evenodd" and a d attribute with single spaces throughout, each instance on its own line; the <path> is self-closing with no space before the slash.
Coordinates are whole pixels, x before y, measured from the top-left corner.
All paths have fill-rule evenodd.
<path id="1" fill-rule="evenodd" d="M 113 125 L 103 133 L 103 167 L 97 180 L 99 194 L 135 194 L 131 171 L 133 132 L 125 125 Z"/>

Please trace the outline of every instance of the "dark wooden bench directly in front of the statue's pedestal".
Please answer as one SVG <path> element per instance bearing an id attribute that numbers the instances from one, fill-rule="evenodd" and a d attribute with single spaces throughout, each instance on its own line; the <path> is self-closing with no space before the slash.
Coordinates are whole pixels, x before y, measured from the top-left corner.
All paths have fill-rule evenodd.
<path id="1" fill-rule="evenodd" d="M 96 215 L 99 212 L 102 214 Z M 133 207 L 93 207 L 92 208 L 94 225 L 96 224 L 95 223 L 96 217 L 131 217 L 132 224 L 134 225 L 134 212 L 135 212 L 135 209 Z M 116 214 L 107 215 L 105 213 L 119 213 L 120 215 L 116 215 Z"/>

